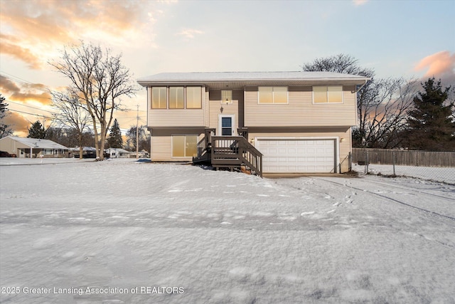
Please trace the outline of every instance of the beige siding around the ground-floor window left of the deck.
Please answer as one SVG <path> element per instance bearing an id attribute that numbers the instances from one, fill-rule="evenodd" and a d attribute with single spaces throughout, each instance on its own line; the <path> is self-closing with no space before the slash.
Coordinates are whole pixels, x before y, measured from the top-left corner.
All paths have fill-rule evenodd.
<path id="1" fill-rule="evenodd" d="M 154 129 L 151 136 L 150 158 L 154 162 L 189 162 L 192 157 L 172 157 L 172 135 L 198 135 L 198 142 L 203 139 L 203 128 Z"/>

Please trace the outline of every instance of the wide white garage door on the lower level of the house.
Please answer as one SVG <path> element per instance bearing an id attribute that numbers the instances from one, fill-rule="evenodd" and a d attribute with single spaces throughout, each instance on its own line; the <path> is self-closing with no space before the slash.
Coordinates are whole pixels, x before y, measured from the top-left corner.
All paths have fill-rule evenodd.
<path id="1" fill-rule="evenodd" d="M 257 140 L 264 173 L 335 172 L 335 140 Z"/>

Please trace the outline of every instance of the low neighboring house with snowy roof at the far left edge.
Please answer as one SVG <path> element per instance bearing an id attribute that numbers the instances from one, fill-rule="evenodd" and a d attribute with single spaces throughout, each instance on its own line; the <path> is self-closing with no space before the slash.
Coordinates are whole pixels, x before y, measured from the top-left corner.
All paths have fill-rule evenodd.
<path id="1" fill-rule="evenodd" d="M 37 138 L 3 137 L 0 150 L 16 154 L 16 157 L 68 157 L 67 147 L 52 140 Z"/>

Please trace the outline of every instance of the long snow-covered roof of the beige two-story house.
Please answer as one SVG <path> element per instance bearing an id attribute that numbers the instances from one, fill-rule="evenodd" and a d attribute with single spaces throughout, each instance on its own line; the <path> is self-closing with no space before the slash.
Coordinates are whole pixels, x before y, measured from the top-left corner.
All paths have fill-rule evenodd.
<path id="1" fill-rule="evenodd" d="M 354 81 L 362 84 L 368 77 L 349 75 L 333 72 L 196 72 L 196 73 L 159 73 L 139 78 L 137 82 L 142 85 L 159 83 L 229 83 L 229 82 L 267 82 L 267 81 Z"/>

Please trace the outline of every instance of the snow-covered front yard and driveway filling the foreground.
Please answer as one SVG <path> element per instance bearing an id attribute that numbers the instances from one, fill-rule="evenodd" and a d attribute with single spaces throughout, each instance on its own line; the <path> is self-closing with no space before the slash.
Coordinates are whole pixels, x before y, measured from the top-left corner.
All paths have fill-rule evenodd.
<path id="1" fill-rule="evenodd" d="M 1 303 L 455 301 L 451 184 L 0 164 Z"/>

